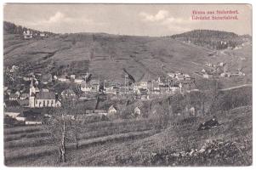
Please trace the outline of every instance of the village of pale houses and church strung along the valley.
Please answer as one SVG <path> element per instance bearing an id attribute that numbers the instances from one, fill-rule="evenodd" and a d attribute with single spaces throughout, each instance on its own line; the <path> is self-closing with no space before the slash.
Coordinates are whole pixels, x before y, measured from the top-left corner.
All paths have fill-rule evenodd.
<path id="1" fill-rule="evenodd" d="M 62 75 L 57 77 L 50 73 L 29 73 L 26 76 L 17 76 L 19 66 L 12 65 L 5 69 L 5 74 L 10 82 L 19 79 L 20 86 L 4 87 L 4 108 L 5 116 L 13 118 L 19 123 L 26 125 L 42 124 L 43 117 L 49 116 L 47 113 L 42 116 L 40 109 L 58 108 L 63 101 L 71 100 L 82 102 L 94 100 L 99 103 L 99 96 L 104 95 L 105 99 L 123 99 L 127 95 L 135 100 L 150 100 L 162 98 L 165 95 L 184 94 L 195 89 L 193 86 L 195 78 L 183 72 L 168 72 L 166 77 L 159 76 L 156 80 L 133 82 L 128 75 L 124 76 L 123 82 L 91 79 L 91 74 L 85 75 Z M 220 62 L 216 65 L 206 63 L 200 72 L 195 72 L 204 79 L 225 78 L 225 77 L 243 77 L 242 71 L 230 72 L 227 64 Z M 10 83 L 11 84 L 11 83 Z M 58 85 L 65 85 L 65 88 L 58 88 Z M 56 88 L 57 87 L 57 88 Z M 98 104 L 97 104 L 98 105 Z M 22 108 L 21 110 L 19 108 Z M 37 113 L 22 114 L 26 110 L 36 109 Z M 30 112 L 30 111 L 28 111 Z M 32 111 L 33 112 L 33 111 Z M 117 108 L 111 105 L 107 110 L 93 108 L 85 111 L 86 116 L 109 116 L 115 115 Z M 134 109 L 134 113 L 140 114 L 139 106 Z M 33 116 L 31 116 L 33 115 Z M 31 118 L 34 117 L 34 118 Z"/>

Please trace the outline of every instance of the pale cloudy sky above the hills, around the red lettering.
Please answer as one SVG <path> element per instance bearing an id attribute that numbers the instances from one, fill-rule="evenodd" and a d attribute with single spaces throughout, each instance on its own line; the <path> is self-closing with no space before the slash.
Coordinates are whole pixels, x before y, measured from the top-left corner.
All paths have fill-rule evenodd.
<path id="1" fill-rule="evenodd" d="M 238 20 L 191 20 L 193 10 L 237 10 L 238 14 L 233 15 Z M 54 33 L 105 32 L 158 37 L 208 29 L 252 35 L 252 7 L 247 4 L 7 3 L 3 18 L 16 25 Z"/>

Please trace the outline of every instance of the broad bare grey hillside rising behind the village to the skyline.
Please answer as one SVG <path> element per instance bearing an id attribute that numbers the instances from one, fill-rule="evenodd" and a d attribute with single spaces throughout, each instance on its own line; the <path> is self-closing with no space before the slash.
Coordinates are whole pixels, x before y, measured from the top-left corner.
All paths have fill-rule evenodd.
<path id="1" fill-rule="evenodd" d="M 3 42 L 4 66 L 19 65 L 20 75 L 49 72 L 57 76 L 65 73 L 82 76 L 88 71 L 92 78 L 120 82 L 124 82 L 126 74 L 131 81 L 139 82 L 169 71 L 183 71 L 196 77 L 195 71 L 201 71 L 206 62 L 232 61 L 230 70 L 237 70 L 241 57 L 246 58 L 239 63 L 242 66 L 252 59 L 250 46 L 237 50 L 239 54 L 231 49 L 220 53 L 170 37 L 75 33 L 24 40 L 20 34 L 5 31 Z M 251 68 L 251 65 L 246 67 L 246 75 L 251 74 Z M 244 82 L 251 82 L 251 77 L 239 81 Z"/>

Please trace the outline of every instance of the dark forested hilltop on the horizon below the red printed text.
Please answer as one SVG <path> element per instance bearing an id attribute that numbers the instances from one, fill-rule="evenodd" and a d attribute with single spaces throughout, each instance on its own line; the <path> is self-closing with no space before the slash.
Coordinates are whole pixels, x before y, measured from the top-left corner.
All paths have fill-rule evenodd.
<path id="1" fill-rule="evenodd" d="M 242 42 L 248 40 L 247 38 L 244 38 L 244 36 L 238 36 L 234 32 L 213 30 L 187 31 L 171 37 L 179 41 L 194 43 L 211 49 L 235 48 L 236 46 L 241 45 Z"/>

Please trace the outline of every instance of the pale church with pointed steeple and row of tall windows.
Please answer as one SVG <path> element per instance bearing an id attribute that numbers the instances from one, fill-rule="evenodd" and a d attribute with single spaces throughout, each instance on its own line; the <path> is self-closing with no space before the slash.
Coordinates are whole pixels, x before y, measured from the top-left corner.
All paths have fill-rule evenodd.
<path id="1" fill-rule="evenodd" d="M 30 94 L 29 94 L 29 107 L 60 107 L 60 100 L 56 98 L 54 92 L 39 90 L 35 88 L 33 80 L 31 80 Z"/>

